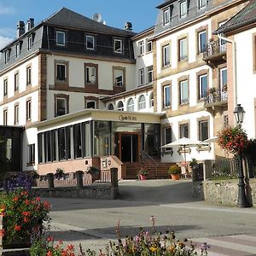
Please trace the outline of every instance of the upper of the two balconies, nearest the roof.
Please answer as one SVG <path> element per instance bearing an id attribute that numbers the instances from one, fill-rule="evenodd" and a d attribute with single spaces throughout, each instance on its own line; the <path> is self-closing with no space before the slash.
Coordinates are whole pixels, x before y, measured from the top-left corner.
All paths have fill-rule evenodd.
<path id="1" fill-rule="evenodd" d="M 203 53 L 203 61 L 210 67 L 226 62 L 227 45 L 224 40 L 210 41 Z"/>

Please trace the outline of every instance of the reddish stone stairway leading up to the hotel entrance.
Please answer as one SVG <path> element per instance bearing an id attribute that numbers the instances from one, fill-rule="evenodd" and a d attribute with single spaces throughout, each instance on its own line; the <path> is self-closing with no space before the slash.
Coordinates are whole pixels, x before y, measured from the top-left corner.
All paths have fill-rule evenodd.
<path id="1" fill-rule="evenodd" d="M 137 178 L 137 173 L 141 170 L 141 168 L 145 168 L 148 170 L 149 175 L 148 178 L 168 178 L 170 175 L 168 174 L 168 169 L 172 166 L 172 163 L 157 163 L 157 173 L 154 169 L 150 169 L 150 165 L 140 162 L 134 163 L 124 163 L 126 167 L 126 176 L 123 177 L 124 179 L 135 179 Z"/>

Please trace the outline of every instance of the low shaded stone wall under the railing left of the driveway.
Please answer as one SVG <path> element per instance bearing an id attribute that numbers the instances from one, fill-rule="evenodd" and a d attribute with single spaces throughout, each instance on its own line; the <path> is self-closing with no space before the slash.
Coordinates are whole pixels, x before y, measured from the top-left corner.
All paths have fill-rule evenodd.
<path id="1" fill-rule="evenodd" d="M 93 199 L 116 199 L 119 195 L 119 188 L 111 184 L 96 184 L 84 186 L 82 189 L 76 187 L 59 188 L 34 188 L 36 195 L 41 197 L 62 197 L 62 198 L 93 198 Z"/>

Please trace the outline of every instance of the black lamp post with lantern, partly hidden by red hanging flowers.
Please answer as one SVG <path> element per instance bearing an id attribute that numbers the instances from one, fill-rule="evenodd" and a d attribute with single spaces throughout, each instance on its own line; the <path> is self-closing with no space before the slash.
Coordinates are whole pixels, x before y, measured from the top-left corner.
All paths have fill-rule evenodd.
<path id="1" fill-rule="evenodd" d="M 236 125 L 241 127 L 241 123 L 244 118 L 244 109 L 241 107 L 241 104 L 237 104 L 234 110 L 234 115 L 236 119 Z M 238 173 L 238 199 L 237 199 L 237 207 L 249 207 L 247 196 L 245 193 L 245 183 L 244 183 L 244 175 L 243 175 L 243 167 L 242 167 L 242 152 L 239 151 L 239 173 Z"/>

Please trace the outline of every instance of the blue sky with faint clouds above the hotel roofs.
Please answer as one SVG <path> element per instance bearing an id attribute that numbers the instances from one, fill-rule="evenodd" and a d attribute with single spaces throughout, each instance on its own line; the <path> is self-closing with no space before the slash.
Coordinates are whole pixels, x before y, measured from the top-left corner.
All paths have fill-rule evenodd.
<path id="1" fill-rule="evenodd" d="M 108 26 L 121 29 L 130 21 L 133 32 L 142 32 L 154 26 L 160 3 L 164 0 L 0 0 L 0 49 L 15 39 L 19 20 L 34 18 L 37 25 L 62 7 L 88 18 L 100 13 Z"/>

